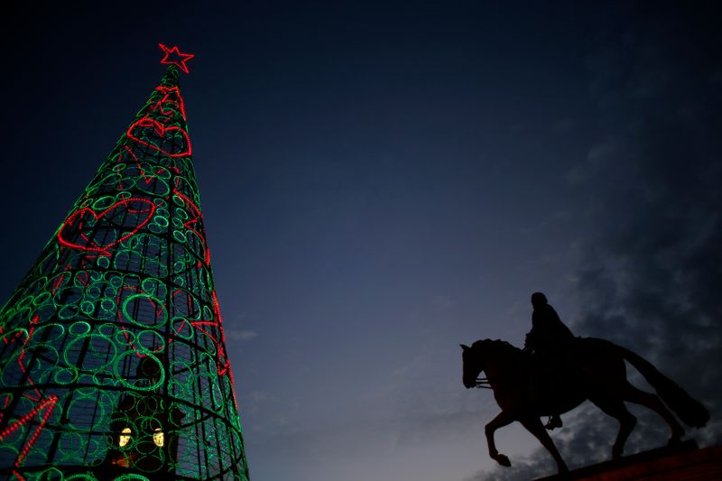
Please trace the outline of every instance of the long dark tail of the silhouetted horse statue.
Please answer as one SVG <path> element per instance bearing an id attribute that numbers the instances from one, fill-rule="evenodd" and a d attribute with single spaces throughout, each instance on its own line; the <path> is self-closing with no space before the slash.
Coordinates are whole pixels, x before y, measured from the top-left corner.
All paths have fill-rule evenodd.
<path id="1" fill-rule="evenodd" d="M 644 376 L 644 379 L 649 384 L 652 384 L 662 401 L 680 417 L 682 422 L 695 428 L 701 428 L 707 424 L 709 412 L 701 402 L 693 399 L 690 394 L 675 384 L 669 377 L 662 375 L 652 363 L 642 356 L 638 356 L 621 346 L 616 346 L 616 348 Z"/>

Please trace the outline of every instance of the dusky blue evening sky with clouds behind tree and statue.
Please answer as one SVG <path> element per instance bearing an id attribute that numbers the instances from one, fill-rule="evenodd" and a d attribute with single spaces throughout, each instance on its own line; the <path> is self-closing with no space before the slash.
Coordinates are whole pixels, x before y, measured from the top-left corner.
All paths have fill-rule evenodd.
<path id="1" fill-rule="evenodd" d="M 533 291 L 653 361 L 712 414 L 690 437 L 722 441 L 714 2 L 19 4 L 0 297 L 158 84 L 158 42 L 195 53 L 180 89 L 255 481 L 555 472 L 518 424 L 495 467 L 499 409 L 461 384 L 458 344 L 522 346 Z M 664 444 L 632 410 L 627 452 Z M 562 419 L 570 467 L 609 457 L 616 421 Z"/>

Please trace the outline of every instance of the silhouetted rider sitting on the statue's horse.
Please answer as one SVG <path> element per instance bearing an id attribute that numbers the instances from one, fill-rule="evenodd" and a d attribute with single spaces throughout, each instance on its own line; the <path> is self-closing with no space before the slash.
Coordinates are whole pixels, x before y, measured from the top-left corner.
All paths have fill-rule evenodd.
<path id="1" fill-rule="evenodd" d="M 559 314 L 549 305 L 542 292 L 532 294 L 532 330 L 526 335 L 524 350 L 532 352 L 537 361 L 546 365 L 546 372 L 557 371 L 560 367 L 560 352 L 569 345 L 574 335 L 561 322 Z M 548 430 L 562 426 L 559 414 L 552 414 L 544 426 Z"/>

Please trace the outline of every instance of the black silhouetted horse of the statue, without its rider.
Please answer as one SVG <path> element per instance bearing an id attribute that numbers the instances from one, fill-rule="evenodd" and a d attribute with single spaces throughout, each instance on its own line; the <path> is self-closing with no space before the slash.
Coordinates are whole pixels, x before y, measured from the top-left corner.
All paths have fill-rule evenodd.
<path id="1" fill-rule="evenodd" d="M 651 363 L 604 339 L 575 338 L 562 354 L 565 365 L 558 366 L 559 372 L 548 378 L 544 378 L 547 373 L 540 363 L 535 362 L 536 355 L 505 341 L 484 339 L 471 347 L 462 344 L 461 348 L 464 385 L 467 388 L 491 388 L 502 410 L 486 424 L 485 432 L 489 456 L 504 467 L 511 466 L 511 461 L 496 450 L 494 432 L 519 421 L 550 452 L 559 472 L 569 471 L 540 417 L 568 412 L 586 400 L 619 421 L 619 431 L 612 446 L 612 458 L 615 459 L 622 456 L 625 441 L 636 424 L 636 418 L 626 410 L 625 402 L 642 404 L 662 416 L 671 430 L 669 445 L 679 443 L 684 435 L 684 429 L 670 410 L 685 424 L 696 428 L 703 427 L 709 420 L 709 413 L 700 402 Z M 625 360 L 634 365 L 657 394 L 646 393 L 629 384 Z M 486 378 L 480 379 L 482 371 Z"/>

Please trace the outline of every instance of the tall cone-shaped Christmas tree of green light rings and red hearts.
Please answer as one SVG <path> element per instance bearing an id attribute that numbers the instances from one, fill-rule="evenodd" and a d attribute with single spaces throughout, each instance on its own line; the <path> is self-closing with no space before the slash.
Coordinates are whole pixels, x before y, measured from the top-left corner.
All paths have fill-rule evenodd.
<path id="1" fill-rule="evenodd" d="M 248 470 L 179 68 L 169 67 L 0 310 L 0 478 Z"/>

